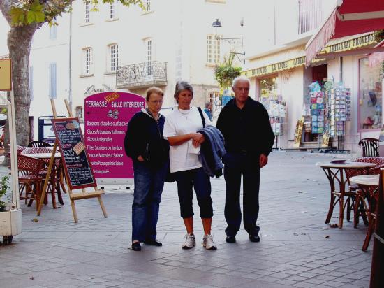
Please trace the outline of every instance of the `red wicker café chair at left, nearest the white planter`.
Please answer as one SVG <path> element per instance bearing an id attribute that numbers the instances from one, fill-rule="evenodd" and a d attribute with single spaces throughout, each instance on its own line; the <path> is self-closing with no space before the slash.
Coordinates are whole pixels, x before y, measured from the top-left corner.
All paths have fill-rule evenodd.
<path id="1" fill-rule="evenodd" d="M 28 206 L 36 201 L 36 210 L 40 201 L 41 182 L 44 180 L 41 171 L 44 162 L 41 159 L 28 157 L 22 154 L 17 155 L 17 170 L 19 171 L 19 192 L 20 200 L 25 200 Z"/>

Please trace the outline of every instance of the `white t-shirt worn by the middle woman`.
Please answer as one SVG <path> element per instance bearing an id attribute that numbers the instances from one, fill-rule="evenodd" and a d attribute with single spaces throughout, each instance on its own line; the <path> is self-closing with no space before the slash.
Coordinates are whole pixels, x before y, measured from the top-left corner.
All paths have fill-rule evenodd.
<path id="1" fill-rule="evenodd" d="M 207 114 L 202 110 L 205 118 L 205 126 L 212 125 Z M 189 110 L 173 108 L 172 113 L 165 117 L 163 137 L 179 136 L 195 133 L 202 129 L 202 120 L 198 108 L 191 106 Z M 198 149 L 200 150 L 200 149 Z M 192 145 L 192 140 L 182 145 L 170 147 L 170 171 L 186 171 L 200 168 L 202 165 L 198 158 L 198 150 Z"/>

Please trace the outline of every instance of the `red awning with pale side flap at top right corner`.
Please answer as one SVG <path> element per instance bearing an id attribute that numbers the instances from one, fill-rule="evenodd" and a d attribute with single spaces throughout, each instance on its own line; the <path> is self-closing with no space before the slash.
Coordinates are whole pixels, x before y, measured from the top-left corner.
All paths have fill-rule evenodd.
<path id="1" fill-rule="evenodd" d="M 332 38 L 381 29 L 384 29 L 384 0 L 338 0 L 330 17 L 305 46 L 306 64 L 309 66 Z"/>

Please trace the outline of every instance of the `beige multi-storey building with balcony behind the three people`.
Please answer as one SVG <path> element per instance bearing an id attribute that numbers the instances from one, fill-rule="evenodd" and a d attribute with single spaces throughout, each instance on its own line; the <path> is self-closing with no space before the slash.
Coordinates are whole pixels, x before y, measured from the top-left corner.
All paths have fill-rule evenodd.
<path id="1" fill-rule="evenodd" d="M 89 94 L 120 90 L 144 95 L 153 85 L 165 92 L 163 107 L 172 107 L 178 80 L 190 82 L 194 105 L 204 106 L 219 93 L 214 64 L 230 49 L 244 52 L 243 1 L 143 2 L 145 11 L 114 3 L 98 12 L 83 1 L 73 3 L 72 107 L 77 115 Z M 215 29 L 216 19 L 221 27 Z"/>

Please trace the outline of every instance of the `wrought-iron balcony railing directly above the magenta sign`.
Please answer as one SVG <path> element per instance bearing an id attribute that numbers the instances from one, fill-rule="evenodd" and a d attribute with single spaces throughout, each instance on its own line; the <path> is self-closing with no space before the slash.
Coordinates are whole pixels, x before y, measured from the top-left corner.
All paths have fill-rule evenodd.
<path id="1" fill-rule="evenodd" d="M 167 62 L 143 62 L 117 67 L 117 88 L 144 88 L 167 85 Z"/>

